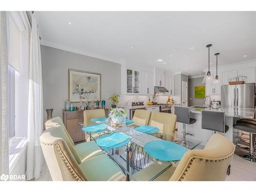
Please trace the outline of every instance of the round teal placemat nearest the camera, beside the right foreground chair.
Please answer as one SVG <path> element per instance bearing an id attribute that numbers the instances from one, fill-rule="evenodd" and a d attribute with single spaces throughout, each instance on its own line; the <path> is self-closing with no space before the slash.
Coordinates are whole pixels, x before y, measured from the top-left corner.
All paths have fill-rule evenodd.
<path id="1" fill-rule="evenodd" d="M 144 145 L 145 151 L 162 161 L 179 161 L 187 152 L 186 148 L 171 141 L 150 141 Z"/>

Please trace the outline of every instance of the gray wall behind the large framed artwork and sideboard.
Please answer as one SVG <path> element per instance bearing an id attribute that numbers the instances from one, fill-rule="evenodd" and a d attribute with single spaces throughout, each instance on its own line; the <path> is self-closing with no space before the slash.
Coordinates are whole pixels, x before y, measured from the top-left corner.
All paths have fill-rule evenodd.
<path id="1" fill-rule="evenodd" d="M 101 74 L 101 100 L 110 106 L 109 97 L 121 93 L 121 65 L 115 62 L 41 46 L 44 109 L 53 108 L 53 117 L 62 118 L 68 100 L 68 69 Z M 78 104 L 78 103 L 77 103 Z M 45 112 L 46 119 L 46 112 Z"/>

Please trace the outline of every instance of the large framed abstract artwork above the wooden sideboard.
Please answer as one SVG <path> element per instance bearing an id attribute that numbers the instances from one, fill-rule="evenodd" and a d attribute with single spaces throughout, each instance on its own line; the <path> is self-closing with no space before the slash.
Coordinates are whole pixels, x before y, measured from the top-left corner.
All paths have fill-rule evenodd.
<path id="1" fill-rule="evenodd" d="M 69 69 L 69 101 L 100 101 L 101 75 Z"/>

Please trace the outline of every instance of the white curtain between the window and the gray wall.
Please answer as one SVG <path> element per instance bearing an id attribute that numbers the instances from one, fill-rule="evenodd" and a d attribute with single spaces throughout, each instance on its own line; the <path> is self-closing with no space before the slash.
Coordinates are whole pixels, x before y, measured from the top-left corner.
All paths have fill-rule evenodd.
<path id="1" fill-rule="evenodd" d="M 38 179 L 42 169 L 39 136 L 44 127 L 42 103 L 42 66 L 38 27 L 32 14 L 29 63 L 27 180 Z"/>

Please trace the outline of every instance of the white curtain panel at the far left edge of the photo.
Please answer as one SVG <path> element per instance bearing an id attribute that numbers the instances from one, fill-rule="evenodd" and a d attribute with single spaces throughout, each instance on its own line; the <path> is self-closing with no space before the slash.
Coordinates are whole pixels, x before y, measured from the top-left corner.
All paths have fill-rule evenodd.
<path id="1" fill-rule="evenodd" d="M 9 175 L 6 12 L 0 11 L 0 175 Z"/>

